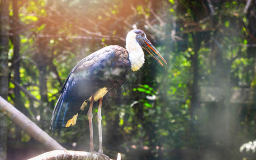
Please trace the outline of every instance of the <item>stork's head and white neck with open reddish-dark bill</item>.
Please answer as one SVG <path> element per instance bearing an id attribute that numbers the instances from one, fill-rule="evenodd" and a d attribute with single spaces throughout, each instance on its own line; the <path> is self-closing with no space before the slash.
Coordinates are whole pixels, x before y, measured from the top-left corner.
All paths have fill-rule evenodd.
<path id="1" fill-rule="evenodd" d="M 145 62 L 145 55 L 142 48 L 146 49 L 162 66 L 163 64 L 154 53 L 159 55 L 159 57 L 166 63 L 162 55 L 148 41 L 147 36 L 143 30 L 133 29 L 129 31 L 126 36 L 125 47 L 129 53 L 129 60 L 131 62 L 132 71 L 139 70 Z"/>

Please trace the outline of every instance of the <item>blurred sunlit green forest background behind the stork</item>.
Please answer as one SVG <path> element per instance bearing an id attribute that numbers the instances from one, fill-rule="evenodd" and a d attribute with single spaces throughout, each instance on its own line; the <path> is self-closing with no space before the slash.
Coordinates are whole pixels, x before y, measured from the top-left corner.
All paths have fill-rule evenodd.
<path id="1" fill-rule="evenodd" d="M 3 14 L 5 2 L 9 20 Z M 1 58 L 8 49 L 7 99 L 65 148 L 89 150 L 86 113 L 72 131 L 51 134 L 61 87 L 82 58 L 106 45 L 124 47 L 127 32 L 140 28 L 168 65 L 163 68 L 146 57 L 131 81 L 109 95 L 102 113 L 106 154 L 120 152 L 124 159 L 254 159 L 255 147 L 249 153 L 239 148 L 255 140 L 256 133 L 255 3 L 1 1 L 1 28 L 8 24 L 3 20 L 9 21 L 9 44 L 1 43 Z M 1 118 L 2 124 L 6 126 Z M 7 135 L 7 159 L 46 151 L 9 120 Z"/>

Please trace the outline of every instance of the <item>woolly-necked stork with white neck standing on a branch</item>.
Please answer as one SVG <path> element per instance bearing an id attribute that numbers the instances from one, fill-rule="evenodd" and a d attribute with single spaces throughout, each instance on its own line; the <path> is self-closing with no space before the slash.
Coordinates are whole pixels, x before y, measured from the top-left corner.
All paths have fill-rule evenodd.
<path id="1" fill-rule="evenodd" d="M 121 86 L 128 78 L 127 71 L 139 70 L 145 62 L 142 49 L 151 54 L 162 66 L 162 55 L 148 41 L 144 31 L 133 29 L 126 36 L 126 49 L 118 45 L 103 47 L 84 59 L 72 69 L 62 87 L 51 118 L 52 132 L 75 125 L 79 110 L 88 109 L 90 150 L 93 147 L 93 102 L 99 100 L 97 122 L 99 128 L 99 154 L 103 155 L 101 108 L 102 98 L 112 89 Z M 87 103 L 90 105 L 87 107 Z"/>

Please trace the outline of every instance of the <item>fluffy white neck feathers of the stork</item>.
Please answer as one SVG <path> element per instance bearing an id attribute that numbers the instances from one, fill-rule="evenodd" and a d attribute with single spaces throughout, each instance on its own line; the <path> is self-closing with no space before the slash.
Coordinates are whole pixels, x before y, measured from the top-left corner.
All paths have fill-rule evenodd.
<path id="1" fill-rule="evenodd" d="M 131 62 L 132 71 L 139 70 L 144 64 L 144 52 L 136 41 L 136 34 L 133 31 L 130 31 L 126 36 L 126 45 L 125 45 L 128 53 L 129 60 Z"/>

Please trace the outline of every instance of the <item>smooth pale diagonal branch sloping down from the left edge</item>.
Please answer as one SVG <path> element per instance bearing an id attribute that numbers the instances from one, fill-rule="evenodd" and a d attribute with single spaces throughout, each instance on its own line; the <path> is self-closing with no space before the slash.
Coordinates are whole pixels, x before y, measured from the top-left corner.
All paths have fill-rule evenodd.
<path id="1" fill-rule="evenodd" d="M 48 150 L 65 149 L 2 97 L 0 97 L 0 112 L 10 118 L 13 123 L 21 127 L 22 130 L 31 135 L 35 140 L 46 146 Z"/>

